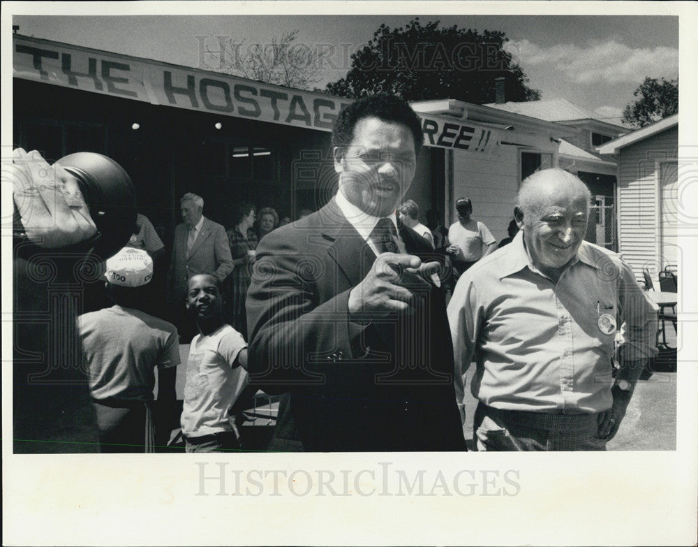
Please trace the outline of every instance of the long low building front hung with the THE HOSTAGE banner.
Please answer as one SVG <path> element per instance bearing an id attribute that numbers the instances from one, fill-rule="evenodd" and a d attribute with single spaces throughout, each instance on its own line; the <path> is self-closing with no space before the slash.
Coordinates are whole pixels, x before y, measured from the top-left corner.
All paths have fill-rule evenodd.
<path id="1" fill-rule="evenodd" d="M 99 152 L 123 166 L 140 212 L 165 245 L 179 198 L 205 200 L 230 227 L 239 200 L 281 217 L 318 210 L 336 191 L 329 134 L 348 99 L 199 68 L 13 35 L 14 145 L 49 161 Z M 460 101 L 414 103 L 424 151 L 406 196 L 455 221 L 467 195 L 493 235 L 506 236 L 519 183 L 558 165 L 560 124 Z"/>

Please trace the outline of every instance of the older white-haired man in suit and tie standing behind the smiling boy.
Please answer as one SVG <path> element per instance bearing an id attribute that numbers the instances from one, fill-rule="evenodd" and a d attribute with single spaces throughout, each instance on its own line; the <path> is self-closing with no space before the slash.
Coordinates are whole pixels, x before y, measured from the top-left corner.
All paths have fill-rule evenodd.
<path id="1" fill-rule="evenodd" d="M 174 228 L 172 260 L 168 271 L 168 304 L 179 334 L 188 342 L 195 335 L 195 325 L 186 312 L 186 284 L 200 273 L 212 274 L 222 282 L 232 272 L 232 255 L 225 228 L 203 216 L 204 200 L 196 194 L 184 194 L 181 218 Z"/>

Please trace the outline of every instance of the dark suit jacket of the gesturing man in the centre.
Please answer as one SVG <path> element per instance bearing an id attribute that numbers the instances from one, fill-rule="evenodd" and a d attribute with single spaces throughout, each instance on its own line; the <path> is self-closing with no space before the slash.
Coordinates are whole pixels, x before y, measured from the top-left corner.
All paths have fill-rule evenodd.
<path id="1" fill-rule="evenodd" d="M 401 226 L 400 235 L 411 254 L 435 258 L 415 231 Z M 349 292 L 376 256 L 334 200 L 267 235 L 257 256 L 248 367 L 267 393 L 288 393 L 276 447 L 465 449 L 443 289 L 415 289 L 411 314 L 349 321 Z"/>

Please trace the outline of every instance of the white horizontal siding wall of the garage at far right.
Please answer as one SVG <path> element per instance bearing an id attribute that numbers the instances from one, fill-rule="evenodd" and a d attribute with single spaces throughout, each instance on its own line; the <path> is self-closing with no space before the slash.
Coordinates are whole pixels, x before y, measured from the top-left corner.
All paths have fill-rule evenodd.
<path id="1" fill-rule="evenodd" d="M 620 251 L 638 279 L 642 269 L 663 268 L 659 255 L 660 207 L 656 161 L 676 158 L 678 129 L 667 129 L 621 149 L 618 156 Z"/>

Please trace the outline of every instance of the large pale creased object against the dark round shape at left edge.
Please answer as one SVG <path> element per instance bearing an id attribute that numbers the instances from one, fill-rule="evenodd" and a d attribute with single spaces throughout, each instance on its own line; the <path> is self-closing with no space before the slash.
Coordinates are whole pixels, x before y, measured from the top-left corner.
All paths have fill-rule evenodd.
<path id="1" fill-rule="evenodd" d="M 13 200 L 31 242 L 56 249 L 97 233 L 77 180 L 64 168 L 50 166 L 36 150 L 27 153 L 17 148 L 12 166 L 6 169 L 12 178 Z"/>

